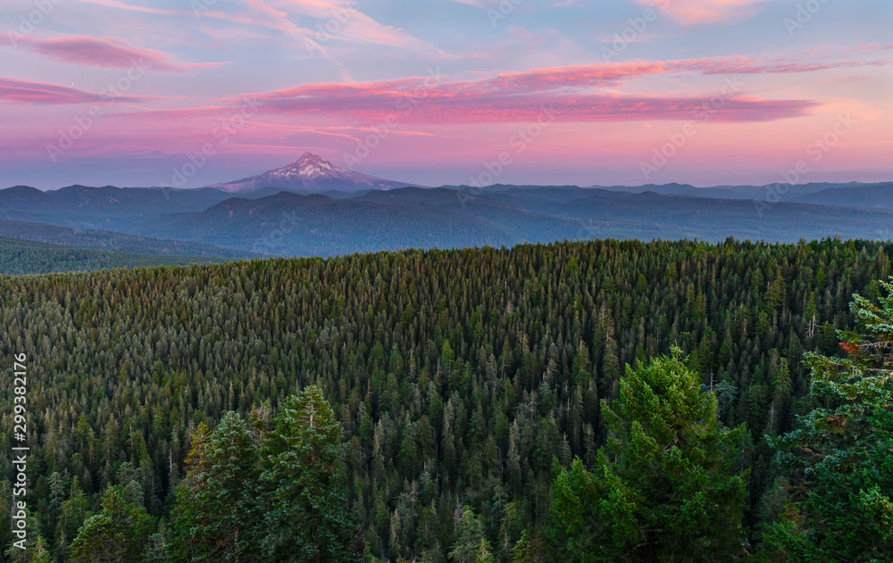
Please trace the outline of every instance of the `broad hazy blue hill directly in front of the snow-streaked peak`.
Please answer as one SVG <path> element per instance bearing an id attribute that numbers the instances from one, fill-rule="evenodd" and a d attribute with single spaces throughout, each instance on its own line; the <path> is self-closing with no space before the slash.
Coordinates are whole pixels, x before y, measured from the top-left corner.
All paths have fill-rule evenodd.
<path id="1" fill-rule="evenodd" d="M 514 242 L 486 221 L 455 211 L 287 192 L 259 200 L 233 198 L 199 213 L 166 215 L 146 222 L 141 231 L 288 256 Z"/>

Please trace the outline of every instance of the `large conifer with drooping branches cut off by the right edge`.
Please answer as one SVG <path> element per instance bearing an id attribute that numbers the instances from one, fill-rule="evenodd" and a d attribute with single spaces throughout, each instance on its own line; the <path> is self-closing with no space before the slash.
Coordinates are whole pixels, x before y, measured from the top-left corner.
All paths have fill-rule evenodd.
<path id="1" fill-rule="evenodd" d="M 893 279 L 874 304 L 854 295 L 846 357 L 806 354 L 820 406 L 772 440 L 790 473 L 766 540 L 805 563 L 893 558 Z"/>

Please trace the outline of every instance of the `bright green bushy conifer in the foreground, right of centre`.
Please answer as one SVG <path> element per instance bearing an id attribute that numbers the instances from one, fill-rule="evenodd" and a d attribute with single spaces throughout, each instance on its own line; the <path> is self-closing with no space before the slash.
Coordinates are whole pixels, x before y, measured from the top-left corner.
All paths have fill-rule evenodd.
<path id="1" fill-rule="evenodd" d="M 747 472 L 730 460 L 744 431 L 723 428 L 716 398 L 679 358 L 627 368 L 603 405 L 608 441 L 595 473 L 578 458 L 552 490 L 559 559 L 728 561 L 743 555 Z"/>

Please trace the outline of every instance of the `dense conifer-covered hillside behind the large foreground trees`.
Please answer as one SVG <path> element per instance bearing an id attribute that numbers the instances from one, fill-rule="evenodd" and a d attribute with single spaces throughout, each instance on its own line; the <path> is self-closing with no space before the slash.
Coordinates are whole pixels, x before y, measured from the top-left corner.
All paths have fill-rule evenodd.
<path id="1" fill-rule="evenodd" d="M 263 426 L 317 385 L 341 423 L 342 490 L 370 557 L 551 560 L 558 470 L 580 458 L 558 482 L 571 487 L 611 468 L 598 448 L 637 432 L 612 414 L 635 410 L 622 388 L 647 392 L 622 378 L 630 364 L 643 381 L 690 370 L 692 412 L 715 409 L 719 426 L 698 432 L 735 451 L 717 469 L 734 478 L 716 480 L 741 502 L 744 557 L 777 524 L 767 493 L 782 468 L 765 436 L 815 406 L 804 352 L 839 352 L 852 294 L 878 299 L 891 253 L 596 241 L 2 277 L 0 351 L 29 357 L 32 529 L 46 557 L 69 560 L 88 513 L 104 501 L 124 514 L 127 498 L 146 510 L 150 560 L 165 560 L 182 539 L 178 485 L 198 478 L 190 436 L 227 410 Z M 645 369 L 672 346 L 686 368 Z M 714 407 L 697 398 L 711 393 Z M 4 451 L 12 404 L 0 387 Z M 218 437 L 276 451 L 270 425 L 241 424 L 230 416 Z M 9 514 L 0 506 L 4 546 Z"/>

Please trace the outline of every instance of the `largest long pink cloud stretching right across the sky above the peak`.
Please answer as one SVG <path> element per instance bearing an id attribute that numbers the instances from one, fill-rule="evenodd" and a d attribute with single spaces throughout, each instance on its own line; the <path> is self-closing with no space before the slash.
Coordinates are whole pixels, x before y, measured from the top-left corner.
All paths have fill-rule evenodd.
<path id="1" fill-rule="evenodd" d="M 616 62 L 523 72 L 503 72 L 482 79 L 448 80 L 433 77 L 360 83 L 321 83 L 255 94 L 263 112 L 323 116 L 338 114 L 352 120 L 420 123 L 499 122 L 538 119 L 551 104 L 563 121 L 685 120 L 699 112 L 703 96 L 606 95 L 605 89 L 634 79 L 663 74 L 780 74 L 886 66 L 890 60 L 820 61 L 805 57 L 759 59 L 747 56 L 712 57 L 661 62 Z M 427 85 L 427 86 L 426 86 Z M 226 100 L 236 103 L 236 100 Z M 726 96 L 711 112 L 715 121 L 780 120 L 805 115 L 818 103 L 810 100 L 764 100 L 742 93 Z"/>

